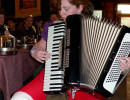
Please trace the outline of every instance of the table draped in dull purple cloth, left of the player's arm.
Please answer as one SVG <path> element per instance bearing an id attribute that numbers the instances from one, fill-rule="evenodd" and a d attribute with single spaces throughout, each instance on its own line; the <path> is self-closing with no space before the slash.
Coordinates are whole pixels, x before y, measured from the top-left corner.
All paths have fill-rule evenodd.
<path id="1" fill-rule="evenodd" d="M 19 50 L 16 55 L 0 56 L 0 88 L 5 100 L 23 86 L 33 71 L 40 65 L 34 60 L 29 50 Z"/>

